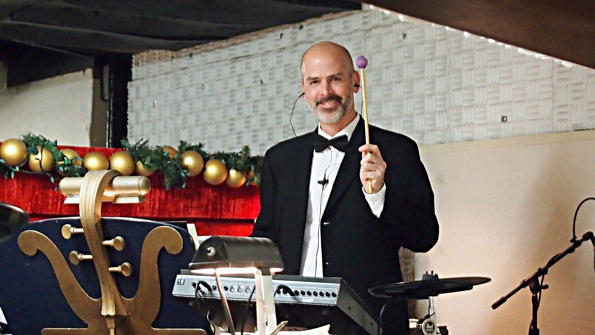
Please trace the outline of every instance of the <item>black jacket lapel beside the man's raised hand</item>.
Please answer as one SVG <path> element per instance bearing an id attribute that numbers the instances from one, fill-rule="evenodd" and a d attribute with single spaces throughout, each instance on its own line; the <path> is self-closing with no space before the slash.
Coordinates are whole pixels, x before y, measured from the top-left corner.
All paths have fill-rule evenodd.
<path id="1" fill-rule="evenodd" d="M 342 198 L 343 193 L 345 193 L 347 187 L 352 183 L 353 178 L 359 177 L 359 168 L 361 167 L 359 162 L 362 160 L 362 153 L 358 151 L 358 148 L 364 145 L 364 136 L 364 119 L 359 118 L 358 125 L 353 130 L 349 145 L 345 150 L 345 157 L 343 157 L 343 161 L 339 165 L 337 178 L 333 183 L 333 189 L 328 197 L 324 213 L 333 208 L 337 201 Z"/>

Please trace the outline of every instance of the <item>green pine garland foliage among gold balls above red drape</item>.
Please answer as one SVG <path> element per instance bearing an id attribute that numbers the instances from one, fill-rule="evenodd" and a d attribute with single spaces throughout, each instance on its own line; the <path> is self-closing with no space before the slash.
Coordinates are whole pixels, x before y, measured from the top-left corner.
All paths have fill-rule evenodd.
<path id="1" fill-rule="evenodd" d="M 15 173 L 43 174 L 49 176 L 52 183 L 54 183 L 54 176 L 50 173 L 21 169 L 29 162 L 30 155 L 37 155 L 39 152 L 37 146 L 41 149 L 48 149 L 51 152 L 54 158 L 54 166 L 65 177 L 83 177 L 87 173 L 86 168 L 76 164 L 77 161 L 82 161 L 82 158 L 68 159 L 57 148 L 57 141 L 50 141 L 46 137 L 32 133 L 23 134 L 20 136 L 20 139 L 27 147 L 27 158 L 22 164 L 15 167 L 6 164 L 3 159 L 0 159 L 0 173 L 5 179 L 14 178 Z M 189 150 L 198 152 L 205 162 L 209 159 L 217 158 L 226 165 L 227 170 L 240 171 L 246 177 L 246 186 L 250 183 L 260 185 L 262 156 L 250 156 L 250 148 L 248 146 L 243 146 L 239 152 L 215 152 L 214 154 L 209 154 L 202 148 L 202 143 L 191 145 L 180 140 L 176 156 L 170 158 L 168 153 L 164 151 L 165 145 L 149 146 L 149 140 L 141 139 L 136 143 L 130 143 L 127 139 L 123 139 L 121 143 L 124 151 L 132 156 L 134 162 L 140 162 L 147 170 L 158 171 L 164 177 L 166 190 L 169 190 L 171 187 L 176 187 L 177 189 L 186 187 L 186 179 L 189 177 L 189 173 L 181 166 L 181 154 Z"/>

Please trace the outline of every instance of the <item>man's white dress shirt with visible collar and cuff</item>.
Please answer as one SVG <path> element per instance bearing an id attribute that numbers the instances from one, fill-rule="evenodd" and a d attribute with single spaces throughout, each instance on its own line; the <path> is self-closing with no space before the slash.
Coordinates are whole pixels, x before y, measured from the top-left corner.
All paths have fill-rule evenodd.
<path id="1" fill-rule="evenodd" d="M 330 136 L 323 132 L 318 124 L 318 134 L 327 139 L 347 135 L 347 140 L 351 140 L 353 130 L 358 125 L 359 114 L 335 136 Z M 308 192 L 308 211 L 306 212 L 306 227 L 303 234 L 302 265 L 300 274 L 309 277 L 322 277 L 322 247 L 320 244 L 320 220 L 324 208 L 327 205 L 328 196 L 333 189 L 334 181 L 341 162 L 345 157 L 345 152 L 339 151 L 334 146 L 329 146 L 321 152 L 314 151 L 312 158 L 312 169 L 310 172 L 310 187 Z M 328 180 L 326 184 L 319 184 L 318 180 L 323 178 Z M 368 201 L 372 213 L 380 217 L 384 208 L 384 198 L 386 196 L 386 185 L 383 185 L 380 191 L 374 194 L 368 194 L 362 186 L 362 193 Z"/>

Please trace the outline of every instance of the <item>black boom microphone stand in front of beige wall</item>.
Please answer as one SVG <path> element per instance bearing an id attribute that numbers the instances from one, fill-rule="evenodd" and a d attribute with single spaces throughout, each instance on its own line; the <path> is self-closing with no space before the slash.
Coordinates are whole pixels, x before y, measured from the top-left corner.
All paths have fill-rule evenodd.
<path id="1" fill-rule="evenodd" d="M 587 231 L 587 233 L 584 233 L 583 238 L 572 242 L 572 245 L 569 246 L 565 251 L 558 253 L 557 255 L 554 255 L 543 268 L 538 268 L 537 271 L 535 271 L 532 275 L 527 277 L 525 280 L 521 281 L 521 284 L 519 284 L 519 286 L 517 286 L 510 293 L 508 293 L 508 295 L 505 295 L 502 298 L 496 300 L 496 302 L 494 302 L 491 305 L 491 308 L 498 308 L 500 305 L 505 303 L 506 300 L 508 300 L 508 298 L 511 298 L 511 296 L 515 295 L 516 292 L 519 292 L 519 290 L 529 286 L 531 293 L 533 293 L 533 296 L 531 296 L 531 302 L 533 304 L 533 319 L 531 320 L 529 335 L 539 335 L 539 328 L 537 328 L 537 309 L 539 308 L 541 290 L 547 289 L 548 287 L 547 285 L 542 285 L 540 283 L 539 277 L 543 277 L 544 275 L 546 275 L 547 270 L 550 267 L 552 267 L 552 265 L 556 264 L 556 262 L 558 262 L 560 259 L 568 255 L 569 253 L 574 252 L 574 250 L 577 249 L 578 246 L 580 246 L 583 242 L 587 240 L 591 240 L 591 242 L 595 241 L 595 237 L 593 236 L 593 233 L 591 233 L 591 231 Z"/>

